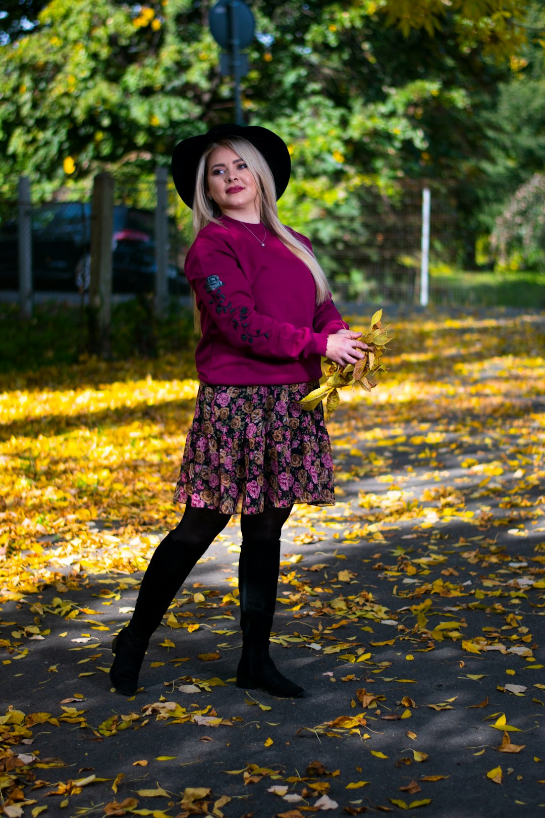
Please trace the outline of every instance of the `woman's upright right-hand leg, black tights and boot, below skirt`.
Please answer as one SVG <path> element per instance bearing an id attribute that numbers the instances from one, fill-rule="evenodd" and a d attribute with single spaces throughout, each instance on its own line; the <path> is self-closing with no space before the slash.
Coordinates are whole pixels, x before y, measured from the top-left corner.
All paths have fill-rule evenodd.
<path id="1" fill-rule="evenodd" d="M 290 508 L 270 508 L 257 515 L 241 515 L 239 559 L 240 627 L 243 653 L 237 685 L 260 687 L 275 696 L 295 698 L 303 689 L 276 669 L 269 656 L 269 637 L 275 614 L 280 562 L 280 533 Z"/>

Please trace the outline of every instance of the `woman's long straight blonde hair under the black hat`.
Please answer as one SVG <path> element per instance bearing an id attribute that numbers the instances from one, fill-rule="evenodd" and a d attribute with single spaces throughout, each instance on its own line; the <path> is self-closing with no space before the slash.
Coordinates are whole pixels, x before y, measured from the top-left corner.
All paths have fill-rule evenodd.
<path id="1" fill-rule="evenodd" d="M 226 227 L 219 221 L 221 209 L 213 199 L 208 199 L 206 195 L 207 187 L 207 165 L 208 158 L 218 147 L 228 147 L 248 165 L 248 170 L 252 174 L 257 187 L 257 200 L 259 203 L 259 215 L 261 222 L 273 235 L 292 251 L 293 255 L 300 258 L 309 268 L 316 285 L 316 304 L 319 305 L 329 298 L 328 280 L 325 273 L 316 261 L 314 254 L 301 240 L 297 239 L 287 227 L 280 222 L 278 210 L 276 209 L 276 188 L 275 179 L 271 173 L 265 157 L 261 151 L 248 142 L 243 137 L 230 137 L 218 139 L 212 142 L 199 160 L 195 178 L 195 192 L 193 199 L 193 231 L 194 237 L 206 227 L 210 222 Z M 194 299 L 194 325 L 197 334 L 200 334 L 200 313 Z"/>

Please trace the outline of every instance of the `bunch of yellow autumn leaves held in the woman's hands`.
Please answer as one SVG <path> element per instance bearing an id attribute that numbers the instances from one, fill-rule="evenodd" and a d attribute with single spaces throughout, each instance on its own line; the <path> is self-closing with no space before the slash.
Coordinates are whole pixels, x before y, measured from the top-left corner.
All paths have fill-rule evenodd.
<path id="1" fill-rule="evenodd" d="M 371 318 L 371 326 L 364 333 L 360 341 L 369 346 L 360 358 L 360 361 L 348 366 L 341 366 L 326 358 L 326 370 L 324 384 L 320 384 L 318 389 L 314 389 L 306 398 L 299 401 L 303 409 L 315 409 L 320 401 L 325 400 L 325 410 L 328 416 L 333 414 L 339 405 L 339 389 L 347 386 L 355 387 L 360 384 L 368 392 L 377 385 L 381 372 L 386 372 L 386 366 L 382 363 L 382 355 L 386 352 L 386 344 L 393 336 L 388 335 L 388 330 L 382 328 L 382 309 L 377 310 Z"/>

